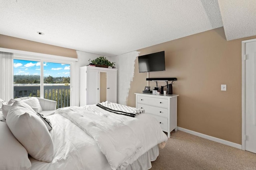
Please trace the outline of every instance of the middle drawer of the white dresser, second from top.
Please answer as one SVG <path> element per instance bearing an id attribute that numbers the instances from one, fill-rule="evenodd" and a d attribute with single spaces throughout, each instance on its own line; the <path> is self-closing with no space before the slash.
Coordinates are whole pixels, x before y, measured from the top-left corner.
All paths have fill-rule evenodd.
<path id="1" fill-rule="evenodd" d="M 168 109 L 156 106 L 148 106 L 145 104 L 137 104 L 139 109 L 144 109 L 146 113 L 151 113 L 158 116 L 168 117 Z"/>

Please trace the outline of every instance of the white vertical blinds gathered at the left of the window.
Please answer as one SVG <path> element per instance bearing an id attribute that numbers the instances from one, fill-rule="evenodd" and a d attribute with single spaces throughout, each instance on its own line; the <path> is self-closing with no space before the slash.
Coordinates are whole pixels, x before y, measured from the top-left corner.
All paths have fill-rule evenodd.
<path id="1" fill-rule="evenodd" d="M 0 98 L 8 102 L 13 98 L 13 53 L 0 51 Z M 2 103 L 0 102 L 0 108 Z"/>

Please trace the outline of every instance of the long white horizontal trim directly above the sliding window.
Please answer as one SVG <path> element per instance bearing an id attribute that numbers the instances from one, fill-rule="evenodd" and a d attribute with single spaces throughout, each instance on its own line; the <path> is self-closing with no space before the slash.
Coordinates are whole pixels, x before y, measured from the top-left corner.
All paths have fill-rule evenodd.
<path id="1" fill-rule="evenodd" d="M 78 59 L 70 58 L 70 57 L 64 57 L 64 56 L 58 56 L 58 55 L 50 55 L 50 54 L 43 54 L 43 53 L 34 53 L 30 51 L 22 51 L 22 50 L 14 50 L 14 49 L 6 49 L 6 48 L 0 48 L 0 51 L 13 53 L 14 57 L 23 57 L 27 59 L 47 59 L 50 61 L 66 61 L 66 62 L 74 62 L 78 61 Z M 54 60 L 52 60 L 54 59 Z"/>

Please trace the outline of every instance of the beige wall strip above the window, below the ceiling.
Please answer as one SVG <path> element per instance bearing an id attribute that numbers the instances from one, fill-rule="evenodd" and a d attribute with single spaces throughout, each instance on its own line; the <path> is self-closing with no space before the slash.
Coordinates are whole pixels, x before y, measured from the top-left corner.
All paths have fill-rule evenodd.
<path id="1" fill-rule="evenodd" d="M 58 55 L 63 57 L 71 57 L 77 59 L 76 50 L 38 43 L 26 39 L 10 37 L 0 34 L 0 47 L 6 49 L 15 49 L 22 51 L 30 51 L 34 53 L 43 53 L 50 55 Z"/>

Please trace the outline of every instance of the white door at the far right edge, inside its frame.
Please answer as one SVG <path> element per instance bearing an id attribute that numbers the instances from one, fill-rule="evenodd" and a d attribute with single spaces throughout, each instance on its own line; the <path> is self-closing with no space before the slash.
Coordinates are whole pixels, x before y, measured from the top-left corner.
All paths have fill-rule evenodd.
<path id="1" fill-rule="evenodd" d="M 256 41 L 245 43 L 245 150 L 256 153 Z"/>

